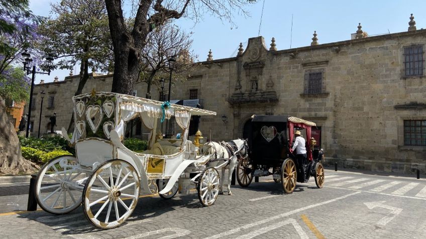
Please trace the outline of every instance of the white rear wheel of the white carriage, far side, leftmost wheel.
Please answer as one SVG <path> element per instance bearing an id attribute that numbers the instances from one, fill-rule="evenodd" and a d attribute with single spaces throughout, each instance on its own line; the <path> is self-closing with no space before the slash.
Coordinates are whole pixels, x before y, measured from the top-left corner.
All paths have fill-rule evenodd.
<path id="1" fill-rule="evenodd" d="M 51 159 L 41 168 L 36 181 L 36 200 L 53 214 L 65 214 L 81 204 L 83 185 L 76 181 L 85 177 L 77 168 L 75 156 Z"/>

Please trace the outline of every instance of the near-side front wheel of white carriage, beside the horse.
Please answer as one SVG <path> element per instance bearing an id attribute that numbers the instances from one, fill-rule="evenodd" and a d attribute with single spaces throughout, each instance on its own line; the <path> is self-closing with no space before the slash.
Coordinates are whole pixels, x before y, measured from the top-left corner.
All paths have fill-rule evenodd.
<path id="1" fill-rule="evenodd" d="M 198 199 L 204 206 L 215 204 L 219 195 L 220 178 L 219 172 L 214 167 L 204 169 L 198 177 L 197 191 Z"/>

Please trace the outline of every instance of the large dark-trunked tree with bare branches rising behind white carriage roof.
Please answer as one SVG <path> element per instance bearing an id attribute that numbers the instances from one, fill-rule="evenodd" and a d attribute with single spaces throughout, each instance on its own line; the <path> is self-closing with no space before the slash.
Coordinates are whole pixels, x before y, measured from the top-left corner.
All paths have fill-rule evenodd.
<path id="1" fill-rule="evenodd" d="M 134 0 L 130 0 L 134 1 Z M 135 21 L 128 30 L 122 0 L 105 0 L 114 46 L 113 92 L 131 94 L 138 79 L 141 53 L 147 36 L 156 27 L 181 17 L 197 21 L 205 13 L 232 22 L 233 13 L 246 14 L 243 7 L 256 0 L 138 0 Z"/>

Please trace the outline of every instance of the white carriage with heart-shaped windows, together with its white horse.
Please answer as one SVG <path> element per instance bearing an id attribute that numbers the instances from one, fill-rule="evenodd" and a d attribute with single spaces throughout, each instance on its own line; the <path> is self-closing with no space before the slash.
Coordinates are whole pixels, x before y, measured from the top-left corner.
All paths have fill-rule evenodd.
<path id="1" fill-rule="evenodd" d="M 234 168 L 237 157 L 247 151 L 244 140 L 234 140 L 229 152 L 217 150 L 214 143 L 198 149 L 187 140 L 192 115 L 216 112 L 94 91 L 75 96 L 73 102 L 75 130 L 68 140 L 75 145 L 76 157 L 60 156 L 42 167 L 36 199 L 45 211 L 55 214 L 68 213 L 82 203 L 87 219 L 99 228 L 121 225 L 141 194 L 167 199 L 176 194 L 178 185 L 179 193 L 189 193 L 190 182 L 196 185 L 204 206 L 214 204 L 222 192 L 217 169 L 222 168 L 224 175 L 225 167 Z M 133 152 L 122 143 L 126 123 L 135 117 L 151 130 L 148 149 L 143 152 Z M 179 125 L 180 139 L 155 138 L 165 119 Z"/>

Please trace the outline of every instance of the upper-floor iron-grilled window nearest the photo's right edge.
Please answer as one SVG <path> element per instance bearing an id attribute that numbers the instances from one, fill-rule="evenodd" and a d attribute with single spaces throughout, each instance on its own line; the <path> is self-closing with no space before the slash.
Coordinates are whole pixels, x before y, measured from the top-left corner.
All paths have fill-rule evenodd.
<path id="1" fill-rule="evenodd" d="M 423 76 L 423 46 L 404 47 L 405 77 Z"/>

